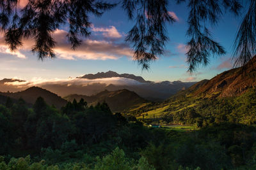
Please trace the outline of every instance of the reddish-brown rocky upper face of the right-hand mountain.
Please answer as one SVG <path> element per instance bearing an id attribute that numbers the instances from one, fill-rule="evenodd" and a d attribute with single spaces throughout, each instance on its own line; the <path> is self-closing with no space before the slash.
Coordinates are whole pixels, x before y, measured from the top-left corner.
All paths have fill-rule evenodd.
<path id="1" fill-rule="evenodd" d="M 193 89 L 201 82 L 191 87 Z M 195 90 L 195 96 L 233 97 L 256 87 L 256 56 L 244 67 L 230 69 L 208 81 Z"/>

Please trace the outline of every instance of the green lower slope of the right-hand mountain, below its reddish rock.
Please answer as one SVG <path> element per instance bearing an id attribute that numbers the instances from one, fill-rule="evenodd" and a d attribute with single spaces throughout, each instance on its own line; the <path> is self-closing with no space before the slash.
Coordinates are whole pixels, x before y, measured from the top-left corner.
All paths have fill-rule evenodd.
<path id="1" fill-rule="evenodd" d="M 182 94 L 181 94 L 182 95 Z M 256 123 L 256 89 L 237 97 L 174 96 L 164 103 L 147 104 L 124 114 L 145 122 L 207 126 L 220 122 Z"/>

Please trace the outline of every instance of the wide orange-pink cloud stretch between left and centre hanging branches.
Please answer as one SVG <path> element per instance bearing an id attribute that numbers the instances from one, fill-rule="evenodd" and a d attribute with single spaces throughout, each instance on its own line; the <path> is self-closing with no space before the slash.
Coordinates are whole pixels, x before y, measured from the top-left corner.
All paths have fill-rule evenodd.
<path id="1" fill-rule="evenodd" d="M 133 52 L 125 44 L 116 44 L 113 41 L 99 41 L 86 39 L 76 50 L 72 50 L 66 39 L 67 32 L 57 30 L 54 33 L 54 39 L 57 41 L 54 49 L 61 59 L 89 59 L 89 60 L 106 60 L 118 59 L 120 57 L 132 57 Z"/>

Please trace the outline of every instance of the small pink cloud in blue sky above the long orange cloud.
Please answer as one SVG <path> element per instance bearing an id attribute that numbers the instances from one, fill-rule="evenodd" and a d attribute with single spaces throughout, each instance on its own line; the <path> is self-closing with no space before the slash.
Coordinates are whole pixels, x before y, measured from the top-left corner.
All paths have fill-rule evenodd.
<path id="1" fill-rule="evenodd" d="M 102 32 L 102 35 L 106 38 L 121 38 L 122 35 L 117 31 L 116 27 L 110 26 L 108 28 L 104 27 L 94 27 L 92 26 L 93 32 Z"/>

